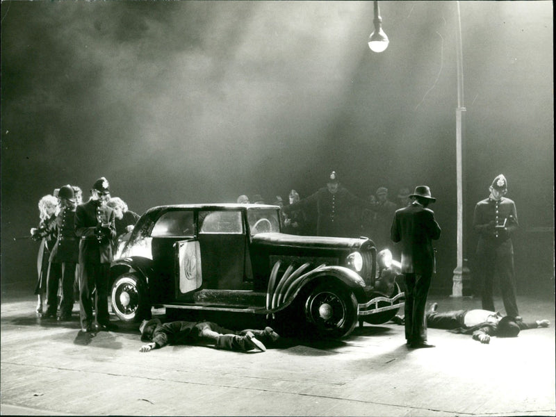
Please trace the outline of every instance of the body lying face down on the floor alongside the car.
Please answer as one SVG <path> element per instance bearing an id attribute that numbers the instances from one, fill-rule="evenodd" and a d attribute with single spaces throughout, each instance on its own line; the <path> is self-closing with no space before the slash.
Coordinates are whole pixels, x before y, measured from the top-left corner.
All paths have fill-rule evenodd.
<path id="1" fill-rule="evenodd" d="M 142 345 L 140 352 L 150 352 L 165 345 L 193 345 L 205 343 L 215 345 L 217 349 L 247 352 L 258 349 L 265 351 L 263 343 L 275 343 L 279 336 L 271 327 L 264 330 L 242 330 L 234 332 L 224 329 L 213 322 L 173 321 L 162 323 L 158 318 L 143 320 L 139 326 L 141 341 L 149 342 Z M 259 340 L 260 339 L 260 340 Z"/>

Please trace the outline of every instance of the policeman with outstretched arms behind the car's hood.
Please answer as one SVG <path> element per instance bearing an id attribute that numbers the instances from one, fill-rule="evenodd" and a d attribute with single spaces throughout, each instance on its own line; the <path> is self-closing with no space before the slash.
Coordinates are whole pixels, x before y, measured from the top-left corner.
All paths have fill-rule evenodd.
<path id="1" fill-rule="evenodd" d="M 340 185 L 336 171 L 329 174 L 326 187 L 296 203 L 284 206 L 284 213 L 289 215 L 292 211 L 314 205 L 317 209 L 318 236 L 350 236 L 355 229 L 350 222 L 352 206 L 372 208 L 370 202 L 352 195 Z"/>

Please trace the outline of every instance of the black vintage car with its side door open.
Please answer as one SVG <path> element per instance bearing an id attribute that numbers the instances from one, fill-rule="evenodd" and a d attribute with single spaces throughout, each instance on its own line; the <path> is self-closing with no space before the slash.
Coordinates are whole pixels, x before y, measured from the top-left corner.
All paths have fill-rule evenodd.
<path id="1" fill-rule="evenodd" d="M 152 306 L 262 315 L 293 314 L 322 336 L 379 324 L 404 304 L 389 250 L 368 238 L 280 232 L 280 208 L 182 204 L 150 208 L 117 248 L 111 303 L 120 320 Z"/>

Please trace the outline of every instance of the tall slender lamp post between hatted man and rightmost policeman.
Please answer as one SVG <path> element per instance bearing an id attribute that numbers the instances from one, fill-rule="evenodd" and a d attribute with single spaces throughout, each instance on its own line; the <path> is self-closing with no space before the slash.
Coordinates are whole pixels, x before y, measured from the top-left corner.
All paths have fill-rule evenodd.
<path id="1" fill-rule="evenodd" d="M 461 47 L 461 15 L 459 1 L 457 6 L 457 39 L 456 39 L 456 63 L 457 63 L 457 108 L 456 108 L 456 186 L 457 186 L 457 265 L 452 277 L 452 297 L 462 297 L 464 281 L 469 277 L 467 259 L 464 258 L 464 65 Z"/>

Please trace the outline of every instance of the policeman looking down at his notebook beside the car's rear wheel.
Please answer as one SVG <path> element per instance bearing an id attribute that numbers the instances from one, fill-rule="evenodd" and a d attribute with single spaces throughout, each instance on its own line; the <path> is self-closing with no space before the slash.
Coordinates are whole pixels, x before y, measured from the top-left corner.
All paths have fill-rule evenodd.
<path id="1" fill-rule="evenodd" d="M 116 236 L 114 211 L 106 206 L 110 199 L 110 188 L 106 178 L 101 177 L 92 186 L 88 202 L 77 206 L 75 212 L 75 234 L 79 242 L 79 309 L 81 329 L 92 332 L 91 294 L 95 294 L 95 327 L 109 330 L 108 275 L 112 261 L 111 241 Z"/>

